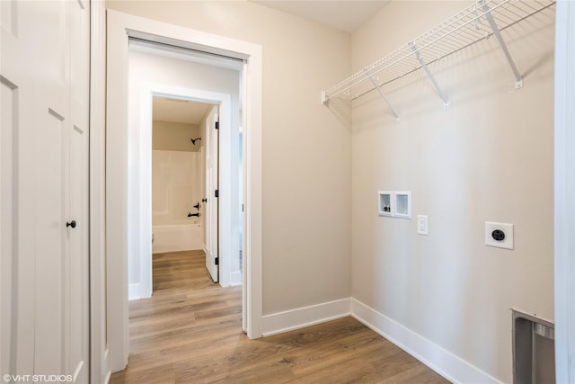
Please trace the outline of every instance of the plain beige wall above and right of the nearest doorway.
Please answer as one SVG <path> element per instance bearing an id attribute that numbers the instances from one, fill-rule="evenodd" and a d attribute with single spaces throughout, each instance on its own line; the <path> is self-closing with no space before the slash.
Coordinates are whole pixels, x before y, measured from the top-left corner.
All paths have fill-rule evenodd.
<path id="1" fill-rule="evenodd" d="M 263 313 L 349 298 L 349 110 L 319 103 L 349 75 L 349 36 L 250 2 L 107 7 L 263 47 Z"/>

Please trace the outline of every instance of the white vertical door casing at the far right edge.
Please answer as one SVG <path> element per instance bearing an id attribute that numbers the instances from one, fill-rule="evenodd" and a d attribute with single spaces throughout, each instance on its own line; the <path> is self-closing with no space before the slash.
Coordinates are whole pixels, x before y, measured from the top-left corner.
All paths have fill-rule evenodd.
<path id="1" fill-rule="evenodd" d="M 575 380 L 575 4 L 555 19 L 555 377 Z"/>

